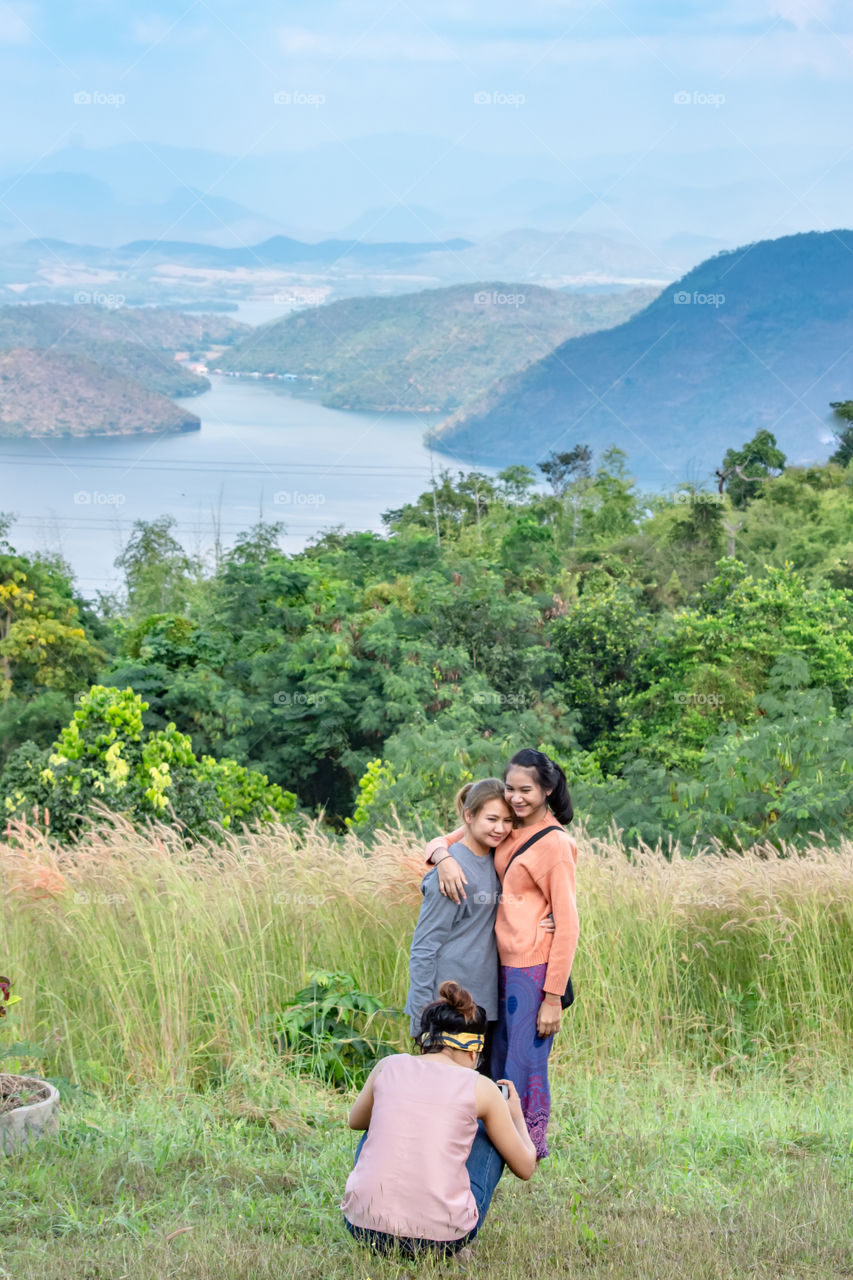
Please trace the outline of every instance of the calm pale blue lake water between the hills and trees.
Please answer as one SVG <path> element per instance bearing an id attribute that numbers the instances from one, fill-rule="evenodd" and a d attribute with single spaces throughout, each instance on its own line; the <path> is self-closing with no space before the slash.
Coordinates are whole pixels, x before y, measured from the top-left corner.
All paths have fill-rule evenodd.
<path id="1" fill-rule="evenodd" d="M 172 515 L 186 549 L 209 556 L 216 526 L 228 547 L 263 515 L 284 522 L 292 553 L 330 526 L 382 530 L 383 511 L 429 488 L 433 465 L 456 466 L 421 443 L 432 416 L 345 413 L 280 384 L 210 380 L 179 401 L 200 431 L 0 438 L 0 512 L 18 516 L 12 544 L 61 552 L 93 598 L 120 585 L 113 561 L 134 520 Z"/>

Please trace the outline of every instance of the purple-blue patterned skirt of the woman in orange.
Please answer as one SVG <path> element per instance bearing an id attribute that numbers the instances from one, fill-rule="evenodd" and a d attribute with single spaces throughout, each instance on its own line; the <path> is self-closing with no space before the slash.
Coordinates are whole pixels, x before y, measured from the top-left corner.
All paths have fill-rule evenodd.
<path id="1" fill-rule="evenodd" d="M 553 1044 L 553 1036 L 543 1038 L 537 1032 L 547 968 L 547 964 L 529 969 L 501 965 L 498 1024 L 492 1047 L 492 1079 L 515 1084 L 528 1133 L 540 1160 L 548 1155 L 548 1053 Z"/>

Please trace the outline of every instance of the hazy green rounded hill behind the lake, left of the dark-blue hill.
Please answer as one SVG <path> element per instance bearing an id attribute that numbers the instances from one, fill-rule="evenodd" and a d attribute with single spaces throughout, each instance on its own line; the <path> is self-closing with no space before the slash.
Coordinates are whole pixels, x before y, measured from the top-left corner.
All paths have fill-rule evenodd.
<path id="1" fill-rule="evenodd" d="M 566 338 L 620 324 L 656 293 L 480 283 L 347 298 L 263 325 L 219 364 L 314 378 L 334 408 L 451 412 Z"/>

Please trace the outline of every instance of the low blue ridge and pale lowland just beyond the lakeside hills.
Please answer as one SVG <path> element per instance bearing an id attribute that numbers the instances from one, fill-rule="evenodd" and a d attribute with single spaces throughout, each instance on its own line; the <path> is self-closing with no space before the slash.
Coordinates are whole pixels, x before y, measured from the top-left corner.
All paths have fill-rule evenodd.
<path id="1" fill-rule="evenodd" d="M 716 247 L 713 243 L 710 247 Z M 692 265 L 708 242 L 679 241 L 675 255 Z M 389 296 L 478 280 L 520 280 L 546 288 L 657 285 L 667 271 L 660 255 L 579 232 L 503 232 L 467 239 L 298 241 L 287 236 L 246 244 L 136 239 L 115 247 L 28 239 L 0 244 L 0 302 L 70 302 L 82 294 L 129 306 L 236 310 L 270 306 L 284 316 L 301 301 Z"/>

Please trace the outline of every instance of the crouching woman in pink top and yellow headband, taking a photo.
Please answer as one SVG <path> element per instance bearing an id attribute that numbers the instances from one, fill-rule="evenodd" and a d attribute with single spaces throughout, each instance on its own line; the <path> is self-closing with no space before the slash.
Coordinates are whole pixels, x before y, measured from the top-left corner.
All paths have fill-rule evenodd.
<path id="1" fill-rule="evenodd" d="M 341 1208 L 378 1253 L 456 1253 L 480 1230 L 505 1162 L 525 1181 L 535 1169 L 515 1085 L 476 1071 L 485 1025 L 467 991 L 442 983 L 421 1014 L 420 1056 L 383 1059 L 352 1105 L 350 1128 L 368 1133 Z"/>

